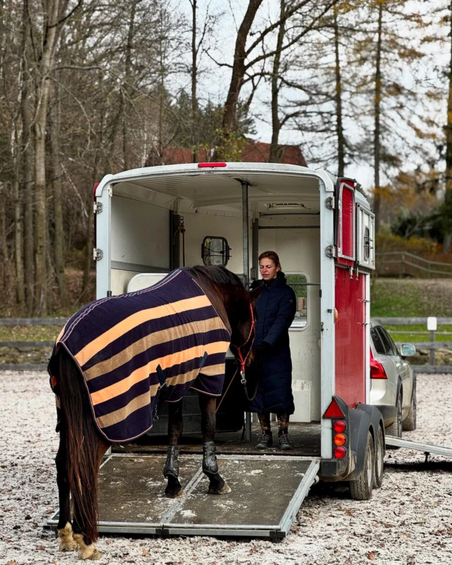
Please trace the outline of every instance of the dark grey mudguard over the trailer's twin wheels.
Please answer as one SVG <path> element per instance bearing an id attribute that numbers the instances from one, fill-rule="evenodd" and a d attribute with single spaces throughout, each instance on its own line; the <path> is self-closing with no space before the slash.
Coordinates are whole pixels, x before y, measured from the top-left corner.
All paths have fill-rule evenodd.
<path id="1" fill-rule="evenodd" d="M 356 467 L 350 475 L 345 477 L 345 481 L 356 480 L 364 470 L 364 456 L 366 453 L 367 445 L 367 432 L 370 431 L 372 439 L 374 439 L 374 454 L 376 449 L 376 436 L 379 427 L 383 432 L 384 439 L 384 425 L 383 416 L 376 406 L 369 404 L 359 403 L 356 408 L 348 411 L 350 422 L 350 442 L 351 448 L 356 453 Z"/>

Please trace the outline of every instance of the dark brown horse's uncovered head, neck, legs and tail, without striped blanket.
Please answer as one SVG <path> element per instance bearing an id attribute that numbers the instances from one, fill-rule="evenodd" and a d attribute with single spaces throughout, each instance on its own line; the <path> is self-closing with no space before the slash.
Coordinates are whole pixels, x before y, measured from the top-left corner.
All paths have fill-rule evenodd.
<path id="1" fill-rule="evenodd" d="M 230 333 L 230 343 L 240 369 L 251 361 L 254 340 L 256 291 L 247 292 L 237 275 L 222 267 L 197 266 L 184 269 L 201 287 Z M 257 291 L 258 292 L 258 291 Z M 96 303 L 93 303 L 96 304 Z M 107 304 L 105 302 L 105 304 Z M 112 306 L 114 308 L 114 306 Z M 202 369 L 200 369 L 202 373 Z M 60 347 L 52 372 L 54 392 L 59 398 L 59 450 L 55 459 L 59 489 L 60 551 L 78 547 L 80 559 L 99 559 L 97 539 L 97 474 L 102 457 L 112 445 L 100 433 L 93 417 L 80 365 Z M 217 398 L 199 394 L 203 434 L 203 472 L 209 479 L 210 494 L 230 492 L 220 475 L 215 456 L 215 408 Z M 165 494 L 183 496 L 179 482 L 178 443 L 183 430 L 182 399 L 168 403 L 169 448 L 164 468 Z M 70 497 L 73 502 L 71 521 Z"/>

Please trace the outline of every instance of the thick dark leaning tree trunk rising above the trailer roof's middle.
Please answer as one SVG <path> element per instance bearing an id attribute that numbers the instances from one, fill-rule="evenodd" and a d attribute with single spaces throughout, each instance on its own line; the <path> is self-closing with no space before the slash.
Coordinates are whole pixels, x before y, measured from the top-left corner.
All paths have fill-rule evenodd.
<path id="1" fill-rule="evenodd" d="M 225 111 L 222 119 L 222 131 L 225 136 L 229 136 L 236 127 L 237 122 L 237 102 L 239 102 L 240 89 L 243 85 L 245 73 L 246 40 L 249 30 L 256 16 L 259 6 L 263 0 L 249 0 L 248 8 L 235 42 L 234 63 L 232 65 L 232 76 L 229 91 L 225 102 Z"/>

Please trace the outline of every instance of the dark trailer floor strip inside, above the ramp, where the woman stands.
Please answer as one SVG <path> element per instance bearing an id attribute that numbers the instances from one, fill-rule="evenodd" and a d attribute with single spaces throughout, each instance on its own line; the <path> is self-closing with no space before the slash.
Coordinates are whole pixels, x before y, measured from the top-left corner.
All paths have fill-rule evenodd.
<path id="1" fill-rule="evenodd" d="M 242 439 L 242 430 L 239 432 L 228 432 L 215 435 L 215 445 L 219 455 L 281 455 L 278 449 L 278 427 L 273 424 L 273 448 L 261 450 L 254 446 L 261 432 L 258 423 L 251 426 L 251 442 Z M 292 451 L 284 451 L 285 456 L 295 457 L 320 457 L 321 441 L 319 422 L 290 423 L 289 439 Z M 166 453 L 166 436 L 142 436 L 131 444 L 115 444 L 112 446 L 113 453 Z M 203 440 L 201 434 L 183 435 L 179 442 L 180 453 L 202 453 Z"/>

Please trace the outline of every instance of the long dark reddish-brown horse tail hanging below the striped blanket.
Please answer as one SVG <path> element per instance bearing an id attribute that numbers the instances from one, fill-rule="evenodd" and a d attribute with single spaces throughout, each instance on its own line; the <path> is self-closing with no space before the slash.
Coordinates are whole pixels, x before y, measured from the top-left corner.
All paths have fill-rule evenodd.
<path id="1" fill-rule="evenodd" d="M 76 362 L 69 353 L 59 351 L 58 395 L 61 430 L 66 442 L 66 470 L 74 509 L 74 521 L 87 544 L 97 540 L 97 472 L 100 437 Z"/>

